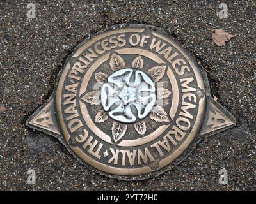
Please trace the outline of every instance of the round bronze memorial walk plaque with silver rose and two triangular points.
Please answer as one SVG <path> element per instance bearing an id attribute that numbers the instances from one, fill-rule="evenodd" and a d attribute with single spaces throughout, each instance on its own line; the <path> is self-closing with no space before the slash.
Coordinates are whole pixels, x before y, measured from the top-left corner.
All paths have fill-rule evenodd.
<path id="1" fill-rule="evenodd" d="M 51 98 L 26 124 L 56 136 L 93 171 L 139 180 L 170 170 L 235 120 L 177 41 L 130 24 L 78 45 Z"/>

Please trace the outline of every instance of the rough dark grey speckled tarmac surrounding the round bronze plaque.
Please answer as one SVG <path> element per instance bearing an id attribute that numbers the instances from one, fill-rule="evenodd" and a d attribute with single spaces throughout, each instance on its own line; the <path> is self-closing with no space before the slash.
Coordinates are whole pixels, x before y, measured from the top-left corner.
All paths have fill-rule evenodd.
<path id="1" fill-rule="evenodd" d="M 1 191 L 253 191 L 256 189 L 256 1 L 28 1 L 0 3 Z M 213 3 L 214 2 L 214 3 Z M 25 121 L 51 96 L 58 71 L 74 47 L 115 24 L 150 24 L 168 31 L 209 71 L 211 93 L 236 117 L 237 126 L 205 138 L 173 170 L 154 179 L 125 182 L 85 168 L 58 142 Z M 214 29 L 236 35 L 223 47 Z M 26 184 L 27 170 L 36 184 Z M 218 171 L 228 171 L 228 184 Z"/>

